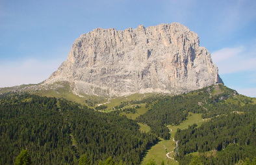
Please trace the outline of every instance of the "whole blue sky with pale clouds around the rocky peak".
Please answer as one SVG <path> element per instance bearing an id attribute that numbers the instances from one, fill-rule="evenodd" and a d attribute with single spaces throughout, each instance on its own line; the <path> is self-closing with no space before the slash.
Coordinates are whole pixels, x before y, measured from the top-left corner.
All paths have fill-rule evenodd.
<path id="1" fill-rule="evenodd" d="M 227 86 L 256 97 L 255 11 L 255 0 L 0 0 L 0 87 L 43 81 L 97 27 L 179 22 L 198 33 Z"/>

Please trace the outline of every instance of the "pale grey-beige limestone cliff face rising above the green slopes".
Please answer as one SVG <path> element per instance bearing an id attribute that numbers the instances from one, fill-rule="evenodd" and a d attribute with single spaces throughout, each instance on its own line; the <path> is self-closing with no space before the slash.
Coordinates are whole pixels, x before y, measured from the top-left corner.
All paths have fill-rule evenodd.
<path id="1" fill-rule="evenodd" d="M 68 81 L 77 94 L 180 94 L 222 82 L 199 38 L 179 23 L 94 29 L 75 40 L 68 59 L 44 84 Z"/>

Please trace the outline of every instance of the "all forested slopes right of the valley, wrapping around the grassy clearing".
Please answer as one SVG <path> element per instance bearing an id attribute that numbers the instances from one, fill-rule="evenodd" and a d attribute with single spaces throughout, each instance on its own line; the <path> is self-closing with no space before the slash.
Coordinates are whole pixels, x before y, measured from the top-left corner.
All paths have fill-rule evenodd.
<path id="1" fill-rule="evenodd" d="M 149 125 L 157 136 L 169 139 L 166 126 L 179 125 L 188 112 L 202 114 L 205 124 L 177 130 L 175 159 L 181 164 L 192 162 L 194 154 L 199 155 L 198 162 L 202 164 L 235 164 L 256 157 L 255 102 L 221 84 L 188 94 L 159 97 L 136 120 Z"/>

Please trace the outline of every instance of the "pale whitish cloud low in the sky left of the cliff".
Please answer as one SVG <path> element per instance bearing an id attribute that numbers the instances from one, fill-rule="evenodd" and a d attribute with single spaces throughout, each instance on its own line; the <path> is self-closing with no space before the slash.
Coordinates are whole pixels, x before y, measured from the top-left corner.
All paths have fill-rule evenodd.
<path id="1" fill-rule="evenodd" d="M 60 59 L 27 59 L 0 63 L 0 88 L 21 84 L 34 84 L 47 79 L 61 64 Z"/>

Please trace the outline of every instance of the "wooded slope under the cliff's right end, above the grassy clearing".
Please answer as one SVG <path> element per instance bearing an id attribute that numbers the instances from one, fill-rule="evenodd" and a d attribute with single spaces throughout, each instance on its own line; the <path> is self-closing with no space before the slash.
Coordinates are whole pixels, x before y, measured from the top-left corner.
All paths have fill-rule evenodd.
<path id="1" fill-rule="evenodd" d="M 216 90 L 219 94 L 214 94 Z M 237 105 L 223 103 L 232 95 L 237 95 L 237 92 L 223 85 L 217 85 L 188 94 L 158 97 L 158 101 L 151 109 L 136 120 L 149 125 L 157 136 L 168 139 L 170 135 L 166 125 L 178 125 L 186 119 L 188 112 L 201 113 L 203 118 L 209 118 L 237 110 L 239 108 Z"/>

